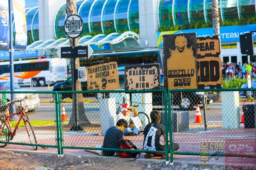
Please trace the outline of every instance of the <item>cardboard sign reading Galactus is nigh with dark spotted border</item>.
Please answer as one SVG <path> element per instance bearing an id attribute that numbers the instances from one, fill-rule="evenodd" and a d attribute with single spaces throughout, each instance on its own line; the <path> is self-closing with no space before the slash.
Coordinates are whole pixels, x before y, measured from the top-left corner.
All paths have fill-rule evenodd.
<path id="1" fill-rule="evenodd" d="M 160 64 L 125 66 L 125 90 L 160 89 Z"/>

